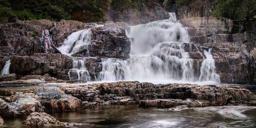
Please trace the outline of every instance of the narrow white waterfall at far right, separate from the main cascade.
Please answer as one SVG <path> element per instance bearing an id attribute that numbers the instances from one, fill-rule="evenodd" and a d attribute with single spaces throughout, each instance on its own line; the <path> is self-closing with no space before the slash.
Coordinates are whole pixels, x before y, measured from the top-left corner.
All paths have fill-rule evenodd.
<path id="1" fill-rule="evenodd" d="M 207 59 L 205 59 L 202 63 L 201 69 L 200 69 L 200 81 L 213 81 L 213 82 L 221 82 L 219 80 L 219 75 L 216 74 L 215 70 L 215 60 L 212 59 L 211 55 L 212 49 L 209 49 L 209 51 L 204 51 L 205 56 Z"/>

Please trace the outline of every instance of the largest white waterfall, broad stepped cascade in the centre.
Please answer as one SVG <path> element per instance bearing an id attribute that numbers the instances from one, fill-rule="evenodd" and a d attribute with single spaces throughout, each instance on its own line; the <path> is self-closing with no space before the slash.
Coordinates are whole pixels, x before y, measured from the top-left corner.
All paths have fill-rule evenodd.
<path id="1" fill-rule="evenodd" d="M 127 60 L 103 60 L 98 80 L 194 81 L 193 60 L 184 51 L 189 35 L 180 23 L 162 20 L 131 27 Z"/>

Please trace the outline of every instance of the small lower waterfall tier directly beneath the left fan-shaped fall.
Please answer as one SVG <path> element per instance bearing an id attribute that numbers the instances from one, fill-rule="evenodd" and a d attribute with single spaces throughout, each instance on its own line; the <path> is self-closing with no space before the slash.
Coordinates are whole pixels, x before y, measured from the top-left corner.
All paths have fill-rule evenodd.
<path id="1" fill-rule="evenodd" d="M 91 77 L 86 69 L 86 60 L 73 58 L 73 69 L 68 72 L 69 80 L 90 81 Z"/>

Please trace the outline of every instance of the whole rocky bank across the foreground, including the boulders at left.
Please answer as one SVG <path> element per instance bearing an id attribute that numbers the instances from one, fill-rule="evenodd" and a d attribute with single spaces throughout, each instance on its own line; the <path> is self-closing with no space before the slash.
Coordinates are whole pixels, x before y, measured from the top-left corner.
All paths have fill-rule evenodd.
<path id="1" fill-rule="evenodd" d="M 51 120 L 55 120 L 53 124 L 58 124 L 56 119 L 48 118 L 49 115 L 40 112 L 80 110 L 103 104 L 138 104 L 143 108 L 173 108 L 181 105 L 186 107 L 256 106 L 255 97 L 244 87 L 198 86 L 197 84 L 155 85 L 137 81 L 40 87 L 27 89 L 24 92 L 1 90 L 0 95 L 0 115 L 29 116 L 25 121 L 26 125 L 34 125 L 29 121 L 33 116 L 47 118 L 48 123 L 45 124 L 52 125 Z M 40 118 L 36 122 L 45 121 Z"/>

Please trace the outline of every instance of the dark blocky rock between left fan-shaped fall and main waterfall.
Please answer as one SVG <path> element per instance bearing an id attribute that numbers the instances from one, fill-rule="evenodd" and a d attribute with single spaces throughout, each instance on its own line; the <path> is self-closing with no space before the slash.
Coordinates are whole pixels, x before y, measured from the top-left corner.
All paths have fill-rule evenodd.
<path id="1" fill-rule="evenodd" d="M 131 51 L 130 39 L 122 26 L 106 26 L 91 29 L 90 56 L 128 59 Z"/>

